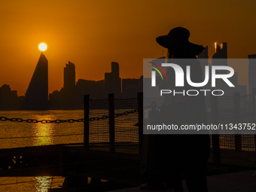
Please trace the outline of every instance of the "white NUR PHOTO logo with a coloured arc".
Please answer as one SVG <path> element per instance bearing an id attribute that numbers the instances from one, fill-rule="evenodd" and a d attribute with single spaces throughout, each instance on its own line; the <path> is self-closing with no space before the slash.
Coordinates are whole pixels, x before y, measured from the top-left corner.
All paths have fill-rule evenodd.
<path id="1" fill-rule="evenodd" d="M 195 90 L 182 90 L 181 92 L 177 92 L 177 90 L 168 90 L 168 89 L 161 89 L 160 90 L 160 96 L 163 96 L 163 94 L 169 94 L 173 93 L 173 95 L 177 94 L 182 94 L 182 95 L 187 95 L 187 96 L 197 96 L 200 92 L 203 92 L 204 95 L 206 96 L 207 92 L 211 92 L 213 96 L 223 96 L 224 95 L 224 90 L 218 88 L 218 85 L 216 82 L 220 82 L 221 84 L 226 84 L 226 87 L 235 87 L 234 84 L 230 81 L 229 78 L 232 78 L 234 75 L 234 70 L 230 66 L 204 66 L 202 69 L 202 81 L 193 81 L 193 75 L 194 73 L 191 72 L 193 71 L 193 62 L 190 63 L 190 60 L 187 60 L 187 65 L 181 67 L 178 64 L 175 63 L 161 63 L 157 64 L 156 62 L 150 62 L 152 66 L 151 71 L 151 87 L 156 87 L 157 86 L 157 75 L 156 72 L 159 73 L 160 77 L 163 78 L 163 75 L 165 76 L 166 80 L 171 77 L 167 77 L 166 72 L 164 71 L 163 67 L 166 68 L 172 68 L 173 72 L 175 73 L 175 78 L 169 79 L 169 81 L 174 81 L 175 82 L 175 87 L 186 87 L 186 84 L 188 87 L 200 87 L 202 90 L 199 88 Z M 160 66 L 161 65 L 161 66 Z M 198 69 L 197 69 L 198 70 Z M 169 73 L 167 73 L 169 74 Z M 160 79 L 160 78 L 159 78 Z M 160 83 L 160 82 L 159 82 Z M 203 89 L 206 85 L 210 86 L 207 89 Z M 174 87 L 173 87 L 174 88 Z M 212 88 L 217 88 L 218 90 L 212 90 Z M 180 88 L 178 89 L 180 90 Z M 193 94 L 192 94 L 193 93 Z"/>

